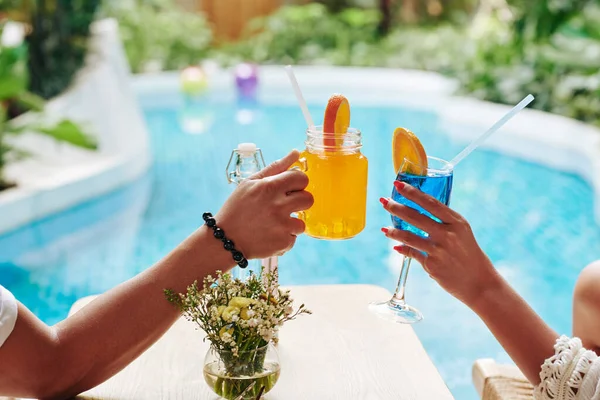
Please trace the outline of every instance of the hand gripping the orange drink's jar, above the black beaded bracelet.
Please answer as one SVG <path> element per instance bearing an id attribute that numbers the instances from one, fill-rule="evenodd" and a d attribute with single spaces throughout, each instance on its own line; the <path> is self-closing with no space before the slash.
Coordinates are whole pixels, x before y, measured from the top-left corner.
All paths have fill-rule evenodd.
<path id="1" fill-rule="evenodd" d="M 242 182 L 215 216 L 246 258 L 283 254 L 304 232 L 304 222 L 291 214 L 309 209 L 314 200 L 304 190 L 306 174 L 288 171 L 299 156 L 294 150 Z"/>

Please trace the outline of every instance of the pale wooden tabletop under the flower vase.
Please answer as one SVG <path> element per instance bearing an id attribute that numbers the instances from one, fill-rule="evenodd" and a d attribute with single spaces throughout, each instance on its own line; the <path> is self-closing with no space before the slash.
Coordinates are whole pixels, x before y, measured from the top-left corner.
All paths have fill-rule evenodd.
<path id="1" fill-rule="evenodd" d="M 413 329 L 380 320 L 367 304 L 387 299 L 366 285 L 290 287 L 314 314 L 287 323 L 278 346 L 281 377 L 269 400 L 453 399 Z M 72 312 L 90 298 L 77 302 Z M 118 327 L 115 327 L 118 329 Z M 210 399 L 202 377 L 203 332 L 178 321 L 140 358 L 82 399 Z"/>

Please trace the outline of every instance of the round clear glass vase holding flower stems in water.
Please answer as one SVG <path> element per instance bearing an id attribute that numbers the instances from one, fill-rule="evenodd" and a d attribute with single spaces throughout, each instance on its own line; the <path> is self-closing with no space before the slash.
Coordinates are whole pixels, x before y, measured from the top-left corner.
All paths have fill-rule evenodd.
<path id="1" fill-rule="evenodd" d="M 239 351 L 237 356 L 211 346 L 204 358 L 204 380 L 213 392 L 228 400 L 254 400 L 261 391 L 268 393 L 279 380 L 280 371 L 279 355 L 271 343 Z"/>

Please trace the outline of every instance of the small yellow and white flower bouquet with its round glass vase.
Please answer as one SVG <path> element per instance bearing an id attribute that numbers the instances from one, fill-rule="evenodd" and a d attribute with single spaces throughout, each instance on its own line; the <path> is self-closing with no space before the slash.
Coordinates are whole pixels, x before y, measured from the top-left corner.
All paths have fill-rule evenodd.
<path id="1" fill-rule="evenodd" d="M 270 274 L 241 281 L 218 272 L 204 279 L 202 289 L 194 282 L 185 294 L 167 289 L 165 295 L 206 333 L 211 347 L 204 378 L 217 395 L 230 400 L 254 399 L 273 388 L 280 374 L 272 346 L 279 328 L 311 313 L 304 304 L 294 310 L 290 292 L 277 287 Z"/>

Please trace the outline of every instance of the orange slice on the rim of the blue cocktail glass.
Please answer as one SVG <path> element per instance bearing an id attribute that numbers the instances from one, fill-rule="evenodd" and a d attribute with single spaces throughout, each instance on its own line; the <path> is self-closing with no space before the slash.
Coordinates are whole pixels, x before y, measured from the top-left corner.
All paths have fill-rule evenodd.
<path id="1" fill-rule="evenodd" d="M 411 131 L 405 128 L 396 128 L 392 140 L 392 158 L 394 170 L 413 175 L 427 174 L 427 154 L 421 141 Z M 407 162 L 404 162 L 406 160 Z M 403 170 L 400 171 L 400 168 Z"/>

